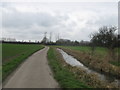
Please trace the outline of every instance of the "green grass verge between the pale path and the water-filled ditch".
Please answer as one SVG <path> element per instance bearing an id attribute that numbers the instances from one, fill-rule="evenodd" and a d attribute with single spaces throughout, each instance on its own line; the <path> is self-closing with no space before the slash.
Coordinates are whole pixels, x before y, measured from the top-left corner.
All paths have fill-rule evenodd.
<path id="1" fill-rule="evenodd" d="M 65 68 L 59 58 L 56 50 L 50 48 L 47 54 L 49 65 L 54 73 L 54 78 L 58 81 L 62 88 L 89 88 L 85 83 L 77 80 L 73 72 Z"/>

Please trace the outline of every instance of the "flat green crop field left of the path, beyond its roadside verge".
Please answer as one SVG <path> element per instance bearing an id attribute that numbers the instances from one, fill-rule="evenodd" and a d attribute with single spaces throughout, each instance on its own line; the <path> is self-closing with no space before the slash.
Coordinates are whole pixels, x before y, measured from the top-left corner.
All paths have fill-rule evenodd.
<path id="1" fill-rule="evenodd" d="M 2 60 L 6 62 L 20 55 L 34 52 L 42 47 L 34 44 L 2 44 Z"/>

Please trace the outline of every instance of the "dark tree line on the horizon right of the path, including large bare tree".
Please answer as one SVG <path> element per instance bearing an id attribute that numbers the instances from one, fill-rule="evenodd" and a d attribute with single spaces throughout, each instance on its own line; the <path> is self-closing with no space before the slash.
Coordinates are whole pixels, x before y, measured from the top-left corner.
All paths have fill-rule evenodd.
<path id="1" fill-rule="evenodd" d="M 70 46 L 102 46 L 113 50 L 115 47 L 120 46 L 120 35 L 116 33 L 117 27 L 103 26 L 99 28 L 98 32 L 90 34 L 90 41 L 71 41 L 68 39 L 58 39 L 56 42 L 49 41 L 45 35 L 42 42 L 47 45 L 70 45 Z M 93 49 L 94 50 L 94 49 Z"/>

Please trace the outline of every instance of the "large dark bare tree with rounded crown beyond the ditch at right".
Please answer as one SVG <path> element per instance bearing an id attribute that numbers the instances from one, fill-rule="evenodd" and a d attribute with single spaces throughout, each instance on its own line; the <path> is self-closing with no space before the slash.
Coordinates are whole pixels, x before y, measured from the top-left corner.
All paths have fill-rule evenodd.
<path id="1" fill-rule="evenodd" d="M 114 48 L 117 42 L 117 35 L 115 34 L 115 31 L 117 28 L 114 27 L 107 27 L 103 26 L 99 29 L 99 32 L 93 33 L 91 42 L 94 45 L 97 46 L 104 46 L 108 48 L 109 54 L 114 59 Z"/>

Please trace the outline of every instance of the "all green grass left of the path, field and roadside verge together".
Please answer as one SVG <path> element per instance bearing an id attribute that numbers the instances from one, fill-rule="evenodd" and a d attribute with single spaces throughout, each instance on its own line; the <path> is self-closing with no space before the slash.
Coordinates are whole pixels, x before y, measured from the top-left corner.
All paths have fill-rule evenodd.
<path id="1" fill-rule="evenodd" d="M 22 61 L 44 48 L 35 44 L 2 44 L 2 79 L 4 80 Z"/>

